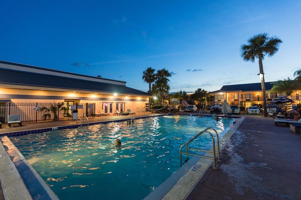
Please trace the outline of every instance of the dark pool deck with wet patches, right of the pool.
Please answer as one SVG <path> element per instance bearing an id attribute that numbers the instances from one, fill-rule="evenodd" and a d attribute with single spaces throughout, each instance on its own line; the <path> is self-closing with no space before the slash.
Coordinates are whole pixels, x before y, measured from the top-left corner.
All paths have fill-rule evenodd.
<path id="1" fill-rule="evenodd" d="M 245 119 L 186 198 L 301 199 L 301 136 L 272 118 Z"/>

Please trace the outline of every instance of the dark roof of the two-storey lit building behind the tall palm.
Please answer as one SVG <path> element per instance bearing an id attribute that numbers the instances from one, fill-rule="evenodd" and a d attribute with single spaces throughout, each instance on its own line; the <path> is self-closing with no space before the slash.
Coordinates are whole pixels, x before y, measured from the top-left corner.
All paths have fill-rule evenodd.
<path id="1" fill-rule="evenodd" d="M 265 89 L 270 90 L 273 87 L 272 82 L 265 82 Z M 223 85 L 220 90 L 213 91 L 210 93 L 219 92 L 230 92 L 230 91 L 261 91 L 261 83 L 247 83 L 247 84 L 237 84 L 237 85 Z"/>

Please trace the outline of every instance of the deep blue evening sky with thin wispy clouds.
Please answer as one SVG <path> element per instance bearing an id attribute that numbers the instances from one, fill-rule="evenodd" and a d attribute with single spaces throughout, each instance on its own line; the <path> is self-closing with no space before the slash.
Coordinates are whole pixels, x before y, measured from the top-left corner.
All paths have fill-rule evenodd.
<path id="1" fill-rule="evenodd" d="M 147 67 L 172 72 L 170 92 L 260 82 L 240 46 L 267 32 L 283 43 L 265 81 L 301 67 L 301 1 L 0 0 L 0 60 L 116 79 L 148 90 Z"/>

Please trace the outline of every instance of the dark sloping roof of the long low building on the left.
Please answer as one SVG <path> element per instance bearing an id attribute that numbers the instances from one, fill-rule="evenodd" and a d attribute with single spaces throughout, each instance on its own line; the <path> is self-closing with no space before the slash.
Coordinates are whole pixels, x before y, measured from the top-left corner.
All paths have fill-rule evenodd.
<path id="1" fill-rule="evenodd" d="M 135 94 L 150 96 L 150 94 L 126 87 L 125 85 L 89 81 L 49 74 L 40 74 L 26 71 L 18 71 L 0 68 L 0 84 L 26 85 L 47 88 L 63 88 L 73 90 L 85 90 L 93 92 L 112 92 L 121 94 Z"/>

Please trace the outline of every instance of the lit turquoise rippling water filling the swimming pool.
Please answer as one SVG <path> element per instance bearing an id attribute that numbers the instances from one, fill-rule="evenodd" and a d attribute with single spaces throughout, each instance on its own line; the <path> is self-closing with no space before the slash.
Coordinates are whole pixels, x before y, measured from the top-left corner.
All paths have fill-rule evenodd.
<path id="1" fill-rule="evenodd" d="M 143 199 L 179 169 L 179 147 L 234 119 L 169 115 L 30 134 L 11 141 L 60 199 Z M 121 139 L 122 146 L 114 147 Z M 200 136 L 191 146 L 210 142 Z"/>

